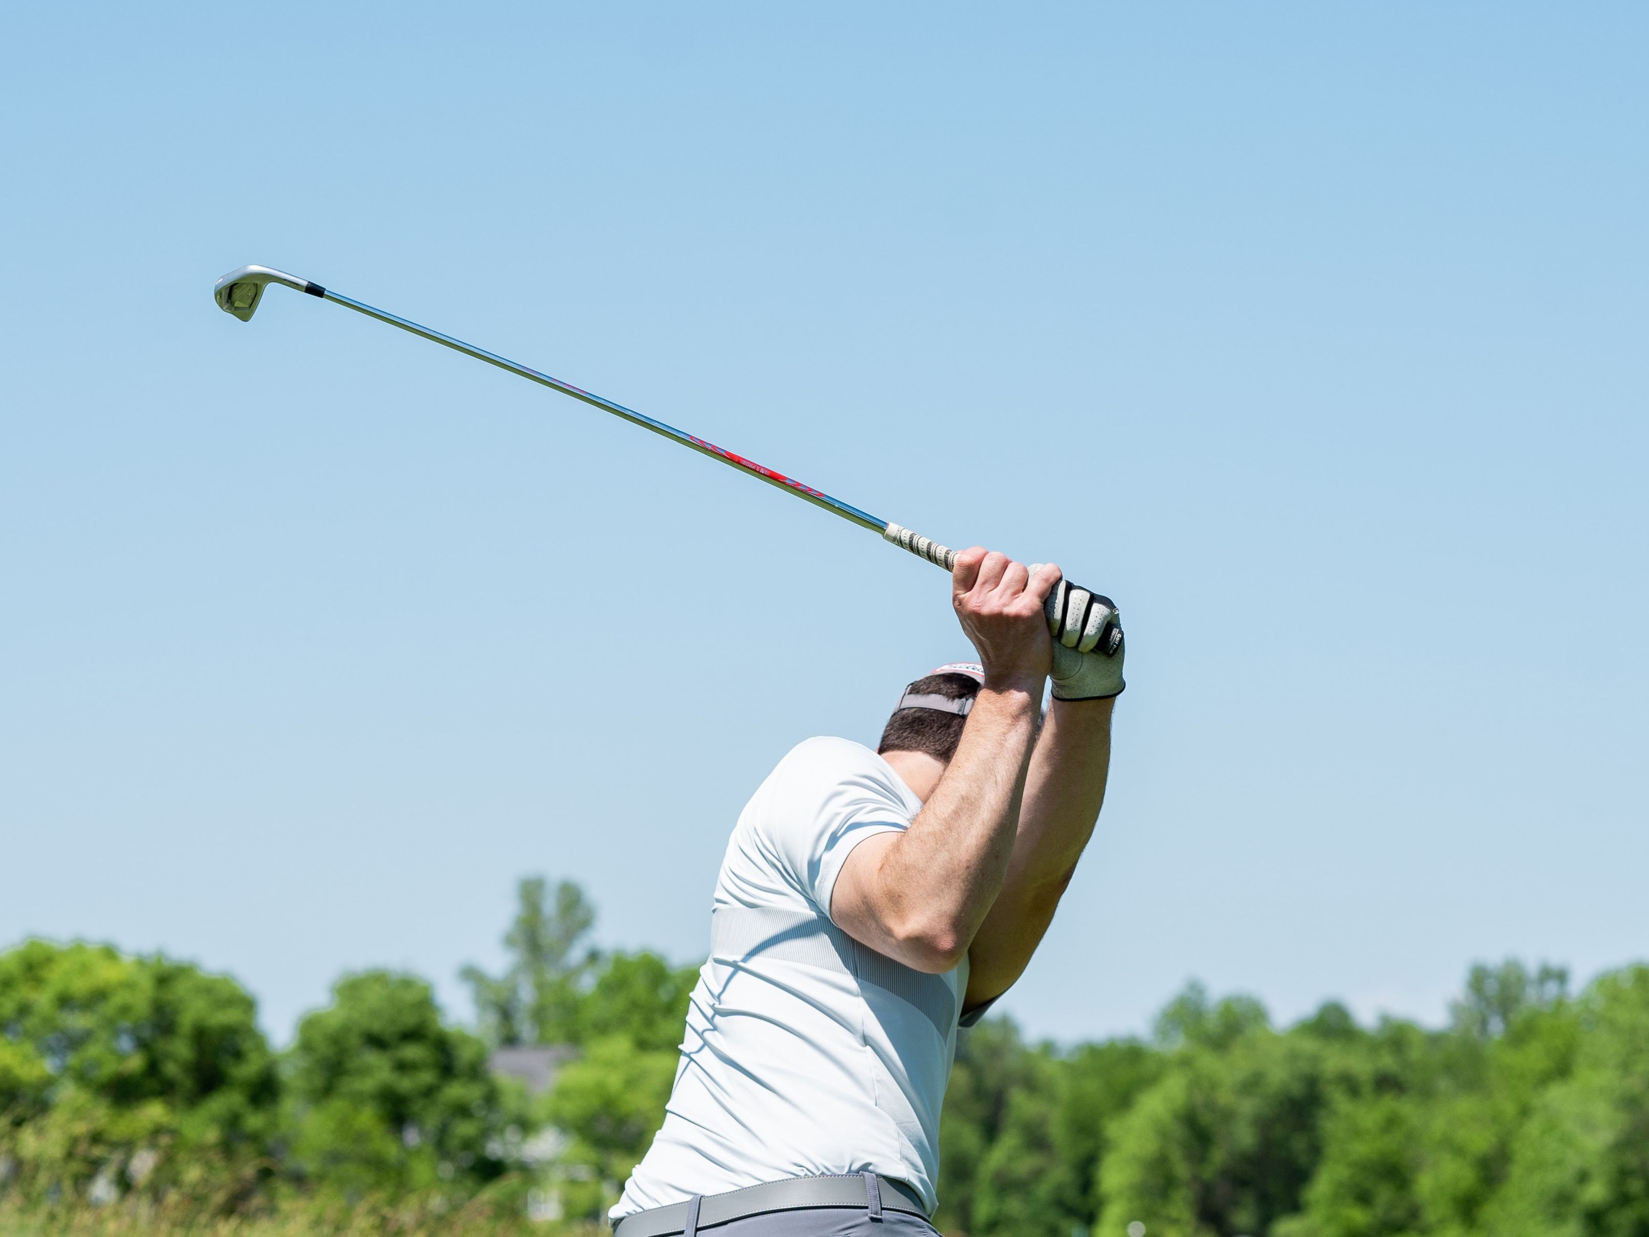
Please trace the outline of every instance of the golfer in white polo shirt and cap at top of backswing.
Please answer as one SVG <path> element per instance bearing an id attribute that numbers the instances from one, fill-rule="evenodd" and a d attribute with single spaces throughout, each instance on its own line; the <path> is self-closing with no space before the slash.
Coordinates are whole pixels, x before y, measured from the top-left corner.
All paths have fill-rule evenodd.
<path id="1" fill-rule="evenodd" d="M 956 1028 L 1031 962 L 1105 797 L 1123 655 L 1049 635 L 1059 584 L 960 554 L 978 663 L 912 683 L 876 752 L 800 744 L 745 805 L 617 1237 L 935 1232 Z"/>

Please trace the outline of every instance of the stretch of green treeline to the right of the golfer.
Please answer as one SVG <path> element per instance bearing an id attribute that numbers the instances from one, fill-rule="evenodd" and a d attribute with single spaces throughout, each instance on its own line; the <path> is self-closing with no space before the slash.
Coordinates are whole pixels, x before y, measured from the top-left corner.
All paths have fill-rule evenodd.
<path id="1" fill-rule="evenodd" d="M 938 1224 L 991 1237 L 1642 1237 L 1649 967 L 1474 967 L 1451 1026 L 1275 1029 L 1192 986 L 1151 1042 L 963 1042 Z"/>

